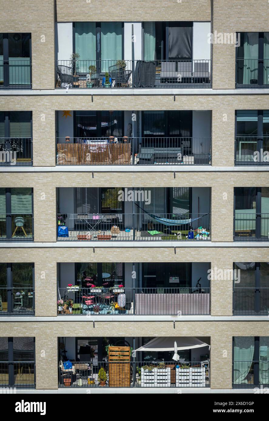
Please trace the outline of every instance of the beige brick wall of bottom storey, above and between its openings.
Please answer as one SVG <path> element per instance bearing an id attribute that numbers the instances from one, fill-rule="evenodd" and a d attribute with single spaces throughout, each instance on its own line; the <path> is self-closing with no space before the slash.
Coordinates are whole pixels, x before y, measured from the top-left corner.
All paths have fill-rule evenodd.
<path id="1" fill-rule="evenodd" d="M 231 389 L 232 337 L 266 336 L 267 322 L 2 322 L 0 337 L 34 336 L 36 388 L 58 388 L 57 338 L 62 336 L 209 336 L 210 387 Z M 49 370 L 48 370 L 49 362 Z"/>

